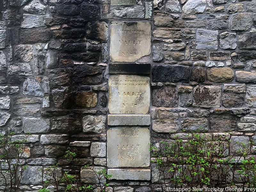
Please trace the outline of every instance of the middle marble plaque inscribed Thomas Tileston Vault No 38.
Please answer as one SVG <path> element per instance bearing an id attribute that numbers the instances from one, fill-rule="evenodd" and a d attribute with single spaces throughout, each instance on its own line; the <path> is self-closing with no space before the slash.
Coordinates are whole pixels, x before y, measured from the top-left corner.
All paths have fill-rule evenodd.
<path id="1" fill-rule="evenodd" d="M 113 75 L 108 79 L 108 109 L 114 114 L 146 114 L 150 104 L 149 77 Z"/>

